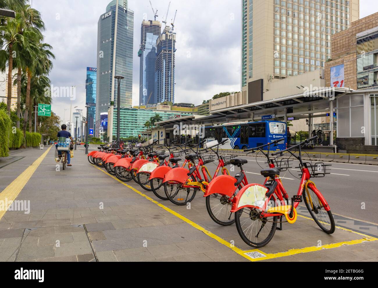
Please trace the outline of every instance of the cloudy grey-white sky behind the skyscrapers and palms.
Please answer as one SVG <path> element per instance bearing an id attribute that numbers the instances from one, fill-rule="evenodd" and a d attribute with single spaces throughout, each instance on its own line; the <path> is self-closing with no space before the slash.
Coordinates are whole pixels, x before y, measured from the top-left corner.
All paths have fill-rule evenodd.
<path id="1" fill-rule="evenodd" d="M 97 23 L 110 0 L 30 0 L 46 25 L 45 42 L 56 56 L 50 73 L 56 87 L 85 83 L 86 67 L 96 67 Z M 163 20 L 169 0 L 151 0 Z M 240 0 L 171 0 L 168 14 L 177 33 L 175 102 L 201 104 L 223 91 L 240 90 Z M 153 19 L 149 0 L 129 0 L 134 11 L 133 105 L 139 102 L 140 25 Z M 360 17 L 378 11 L 376 0 L 360 0 Z M 70 100 L 54 98 L 52 110 L 69 118 Z M 85 109 L 85 89 L 72 106 Z M 64 109 L 68 110 L 64 112 Z"/>

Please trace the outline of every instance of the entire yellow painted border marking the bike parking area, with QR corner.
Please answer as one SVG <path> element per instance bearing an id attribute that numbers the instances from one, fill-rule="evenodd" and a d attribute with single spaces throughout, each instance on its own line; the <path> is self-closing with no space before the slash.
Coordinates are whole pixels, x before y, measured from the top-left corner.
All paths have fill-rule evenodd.
<path id="1" fill-rule="evenodd" d="M 290 249 L 290 250 L 288 250 L 286 252 L 278 252 L 278 253 L 265 253 L 265 252 L 263 252 L 263 251 L 261 251 L 259 249 L 245 250 L 244 251 L 244 250 L 242 250 L 240 248 L 235 247 L 234 245 L 232 245 L 231 243 L 229 243 L 226 240 L 222 239 L 221 237 L 219 237 L 219 236 L 211 233 L 210 231 L 204 229 L 203 227 L 201 227 L 200 225 L 194 223 L 193 221 L 187 219 L 183 215 L 181 215 L 181 214 L 175 212 L 174 210 L 166 207 L 165 205 L 159 203 L 158 201 L 155 201 L 154 199 L 152 199 L 151 197 L 149 197 L 146 194 L 142 193 L 141 191 L 136 190 L 134 187 L 126 184 L 125 182 L 122 182 L 117 177 L 115 177 L 115 176 L 107 173 L 106 171 L 102 170 L 101 168 L 97 167 L 96 165 L 92 164 L 92 166 L 96 167 L 98 170 L 100 170 L 103 173 L 107 174 L 108 176 L 112 177 L 113 179 L 115 179 L 119 183 L 125 185 L 126 187 L 130 188 L 134 192 L 138 193 L 139 195 L 143 196 L 144 198 L 148 199 L 149 201 L 151 201 L 154 204 L 158 205 L 159 207 L 163 208 L 167 212 L 175 215 L 176 217 L 180 218 L 184 222 L 186 222 L 186 223 L 190 224 L 191 226 L 195 227 L 196 229 L 202 231 L 204 234 L 208 235 L 209 237 L 213 238 L 214 240 L 217 240 L 219 243 L 225 245 L 226 247 L 228 247 L 229 249 L 231 249 L 235 253 L 239 254 L 240 256 L 243 256 L 244 258 L 246 258 L 246 259 L 248 259 L 249 261 L 252 261 L 252 262 L 261 261 L 261 260 L 267 260 L 267 259 L 274 259 L 274 258 L 279 258 L 279 257 L 286 257 L 286 256 L 291 256 L 291 255 L 296 255 L 296 254 L 301 254 L 301 253 L 320 251 L 320 250 L 324 250 L 324 249 L 338 248 L 338 247 L 341 247 L 343 245 L 354 245 L 354 244 L 360 244 L 360 243 L 363 243 L 363 242 L 366 242 L 366 241 L 376 241 L 376 240 L 378 240 L 378 238 L 370 237 L 368 235 L 365 235 L 365 234 L 362 234 L 362 233 L 359 233 L 359 232 L 356 232 L 356 231 L 353 231 L 353 230 L 350 230 L 350 229 L 346 229 L 344 227 L 336 226 L 336 228 L 338 228 L 338 229 L 345 230 L 345 231 L 348 231 L 348 232 L 352 232 L 354 234 L 361 235 L 364 238 L 358 239 L 358 240 L 342 241 L 342 242 L 338 242 L 338 243 L 326 244 L 326 245 L 322 245 L 322 246 L 310 246 L 310 247 L 305 247 L 305 248 Z M 312 218 L 309 218 L 307 216 L 302 216 L 302 215 L 299 215 L 299 214 L 298 214 L 298 216 L 300 216 L 302 218 L 306 218 L 306 219 L 311 220 L 311 221 L 314 221 Z M 260 254 L 265 255 L 265 257 L 251 258 L 248 255 L 246 255 L 246 253 L 249 253 L 249 252 L 259 252 Z"/>

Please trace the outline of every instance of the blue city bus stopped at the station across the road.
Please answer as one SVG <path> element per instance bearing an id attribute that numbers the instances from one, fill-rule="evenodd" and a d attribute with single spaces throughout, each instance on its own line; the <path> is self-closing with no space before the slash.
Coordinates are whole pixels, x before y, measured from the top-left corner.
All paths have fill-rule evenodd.
<path id="1" fill-rule="evenodd" d="M 287 148 L 286 123 L 281 121 L 257 121 L 257 122 L 235 122 L 217 126 L 205 127 L 204 138 L 206 142 L 218 140 L 221 142 L 228 139 L 228 142 L 220 148 L 223 149 L 248 149 L 264 145 L 275 139 L 285 138 L 277 146 L 271 149 L 282 150 Z"/>

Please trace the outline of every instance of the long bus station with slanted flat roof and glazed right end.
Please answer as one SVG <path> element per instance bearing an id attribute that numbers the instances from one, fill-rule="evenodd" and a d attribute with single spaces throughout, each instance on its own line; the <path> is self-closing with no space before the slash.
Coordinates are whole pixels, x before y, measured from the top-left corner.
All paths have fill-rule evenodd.
<path id="1" fill-rule="evenodd" d="M 201 126 L 213 127 L 262 120 L 282 121 L 285 123 L 302 120 L 308 125 L 308 133 L 303 135 L 305 139 L 308 135 L 311 136 L 311 133 L 316 129 L 314 119 L 325 117 L 324 119 L 327 119 L 329 123 L 329 130 L 323 131 L 324 141 L 322 145 L 314 143 L 313 151 L 367 153 L 366 151 L 377 150 L 374 147 L 376 145 L 378 130 L 376 127 L 378 117 L 377 105 L 378 90 L 352 90 L 349 88 L 328 87 L 272 100 L 225 107 L 210 111 L 209 116 L 192 115 L 160 121 L 156 123 L 158 127 L 151 131 L 151 136 L 154 140 L 160 140 L 160 143 L 167 143 L 175 138 L 182 139 L 184 137 L 185 139 L 192 137 L 197 142 L 199 138 L 203 138 L 201 136 L 204 136 L 201 135 L 201 132 L 198 135 L 198 128 Z M 177 133 L 174 130 L 178 127 L 186 129 L 180 129 L 180 132 Z M 253 129 L 248 129 L 248 132 L 247 130 L 240 131 L 239 135 L 234 135 L 234 137 L 243 137 L 245 133 L 253 133 L 251 131 Z M 230 138 L 233 132 L 231 129 L 230 133 L 226 133 L 226 137 Z M 209 134 L 206 136 L 209 137 Z M 214 137 L 215 135 L 212 136 Z M 249 137 L 255 136 L 249 135 Z M 288 134 L 288 137 L 291 138 L 290 134 Z M 292 138 L 288 145 L 296 142 L 296 138 Z M 348 145 L 353 147 L 348 147 Z M 342 149 L 344 147 L 347 149 Z M 239 146 L 236 148 L 242 149 Z M 346 152 L 343 150 L 351 151 Z"/>

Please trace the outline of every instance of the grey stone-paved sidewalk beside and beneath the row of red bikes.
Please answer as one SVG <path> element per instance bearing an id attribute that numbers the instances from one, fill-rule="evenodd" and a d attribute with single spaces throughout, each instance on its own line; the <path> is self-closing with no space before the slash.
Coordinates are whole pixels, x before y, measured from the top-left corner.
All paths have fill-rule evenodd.
<path id="1" fill-rule="evenodd" d="M 0 169 L 0 179 L 8 185 L 43 152 L 25 151 L 27 157 Z M 253 249 L 234 225 L 221 227 L 211 220 L 201 193 L 187 209 L 127 183 L 152 202 L 90 165 L 80 146 L 71 163 L 56 171 L 53 149 L 43 159 L 17 198 L 30 200 L 30 213 L 7 211 L 0 220 L 0 261 L 249 261 L 240 254 Z M 347 245 L 353 241 L 358 244 Z M 240 254 L 226 242 L 235 243 Z M 307 252 L 319 243 L 342 244 Z M 377 248 L 378 241 L 365 241 L 363 235 L 342 229 L 327 235 L 314 221 L 299 217 L 283 224 L 259 251 L 271 257 L 265 261 L 377 261 Z"/>

